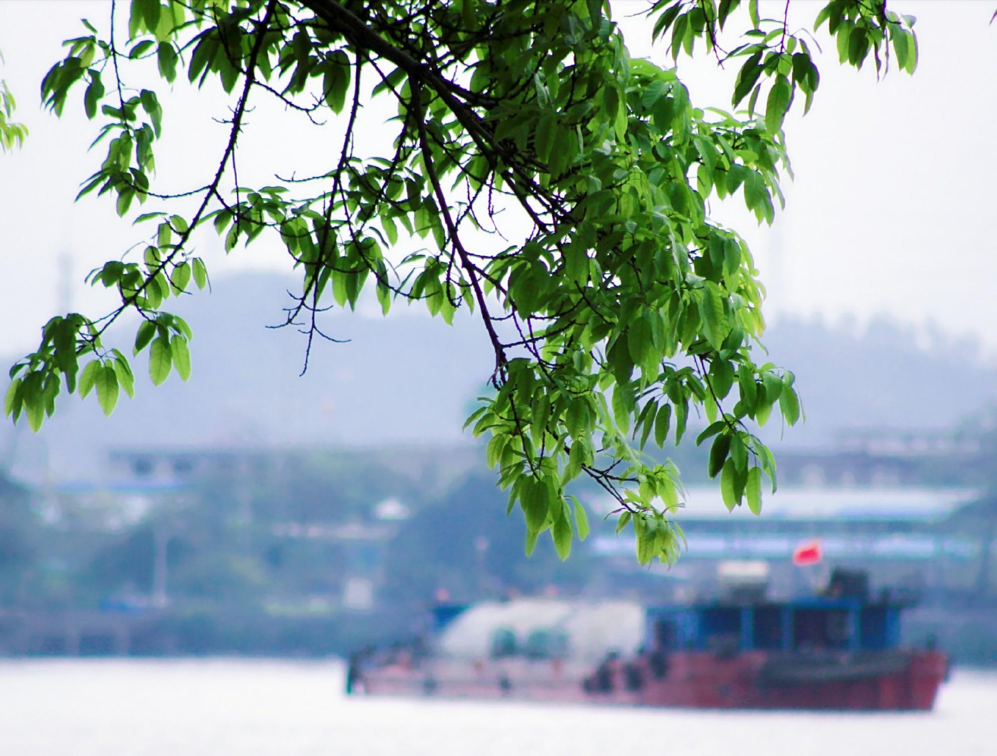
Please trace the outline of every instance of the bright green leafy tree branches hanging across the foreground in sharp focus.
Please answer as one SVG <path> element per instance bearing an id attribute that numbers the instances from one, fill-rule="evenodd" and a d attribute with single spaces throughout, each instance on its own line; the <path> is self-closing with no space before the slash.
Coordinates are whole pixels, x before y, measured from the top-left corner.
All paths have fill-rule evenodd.
<path id="1" fill-rule="evenodd" d="M 798 90 L 810 107 L 818 69 L 804 37 L 785 17 L 760 18 L 757 2 L 656 3 L 653 35 L 674 59 L 699 41 L 719 61 L 743 61 L 733 105 L 747 100 L 747 112 L 698 108 L 675 69 L 631 59 L 608 10 L 601 0 L 135 0 L 126 47 L 114 38 L 114 6 L 112 31 L 84 21 L 88 34 L 67 42 L 42 84 L 57 115 L 84 84 L 87 115 L 104 122 L 97 143 L 107 157 L 80 195 L 110 194 L 119 215 L 150 199 L 170 212 L 138 218 L 154 226 L 140 259 L 91 273 L 119 292 L 115 311 L 49 321 L 39 349 L 11 371 L 7 414 L 37 430 L 63 382 L 77 389 L 85 361 L 80 392 L 96 388 L 106 412 L 118 386 L 131 394 L 128 358 L 102 343 L 128 310 L 143 317 L 134 351 L 149 350 L 153 383 L 172 370 L 185 380 L 190 330 L 162 307 L 206 285 L 190 239 L 210 225 L 226 251 L 279 239 L 302 272 L 287 323 L 305 324 L 308 349 L 325 335 L 316 314 L 330 301 L 355 307 L 365 286 L 385 313 L 398 299 L 447 322 L 463 306 L 478 311 L 495 393 L 468 426 L 491 435 L 488 463 L 509 511 L 523 513 L 527 552 L 549 531 L 564 558 L 587 531 L 567 494 L 586 476 L 618 501 L 642 564 L 673 562 L 678 470 L 642 450 L 652 434 L 658 446 L 679 443 L 693 412 L 709 423 L 697 443 L 711 442 L 709 474 L 725 504 L 747 496 L 759 512 L 761 476 L 775 490 L 776 464 L 748 423 L 764 424 L 777 403 L 790 425 L 802 412 L 794 375 L 752 359 L 764 289 L 744 240 L 710 217 L 708 202 L 740 193 L 772 222 L 789 172 L 782 125 Z M 736 15 L 749 28 L 727 51 L 720 38 Z M 889 45 L 901 69 L 916 65 L 913 20 L 884 3 L 832 0 L 817 17 L 825 24 L 853 66 L 871 53 L 882 70 Z M 163 108 L 124 78 L 143 61 L 167 84 L 213 79 L 234 98 L 229 138 L 198 189 L 152 189 Z M 234 176 L 257 96 L 345 123 L 334 167 L 273 186 L 236 182 L 229 195 L 222 180 Z M 394 140 L 361 157 L 355 137 L 372 96 L 396 103 Z M 505 241 L 501 212 L 521 221 L 520 238 Z M 393 266 L 385 250 L 401 238 L 425 246 Z"/>

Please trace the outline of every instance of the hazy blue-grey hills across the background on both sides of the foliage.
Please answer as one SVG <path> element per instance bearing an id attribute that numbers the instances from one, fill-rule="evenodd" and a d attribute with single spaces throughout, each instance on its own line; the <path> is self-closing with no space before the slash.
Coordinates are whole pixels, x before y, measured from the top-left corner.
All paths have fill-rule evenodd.
<path id="1" fill-rule="evenodd" d="M 14 474 L 39 480 L 49 468 L 57 479 L 93 477 L 109 447 L 467 440 L 465 411 L 494 359 L 478 320 L 458 318 L 448 328 L 417 307 L 400 306 L 387 318 L 337 308 L 324 315 L 323 329 L 349 341 L 316 341 L 299 377 L 304 337 L 266 328 L 280 322 L 294 286 L 291 278 L 244 273 L 216 281 L 209 296 L 185 297 L 175 311 L 194 330 L 190 381 L 174 374 L 155 389 L 140 378 L 136 399 L 123 399 L 109 419 L 92 398 L 64 396 L 38 437 L 4 427 L 0 440 Z M 120 333 L 121 345 L 131 344 L 133 331 Z M 829 444 L 848 426 L 947 426 L 997 399 L 997 371 L 965 345 L 920 348 L 909 331 L 887 322 L 855 335 L 786 319 L 766 344 L 773 362 L 797 373 L 808 416 L 805 426 L 787 431 L 788 444 Z M 143 356 L 137 372 L 145 366 Z"/>

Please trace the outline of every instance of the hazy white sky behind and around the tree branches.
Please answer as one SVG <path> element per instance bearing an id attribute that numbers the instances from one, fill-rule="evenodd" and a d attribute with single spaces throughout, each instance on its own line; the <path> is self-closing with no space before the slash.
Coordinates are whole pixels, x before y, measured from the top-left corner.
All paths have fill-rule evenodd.
<path id="1" fill-rule="evenodd" d="M 625 18 L 642 6 L 642 0 L 624 0 L 613 8 L 631 53 L 664 61 L 664 46 L 650 46 L 650 25 Z M 794 3 L 791 21 L 810 26 L 820 7 Z M 915 76 L 894 72 L 876 83 L 871 66 L 840 68 L 823 33 L 814 108 L 806 118 L 795 109 L 787 122 L 797 178 L 784 186 L 786 211 L 772 229 L 758 228 L 740 198 L 715 206 L 715 214 L 752 242 L 769 287 L 770 315 L 850 313 L 864 320 L 885 313 L 973 333 L 997 352 L 997 242 L 991 230 L 997 217 L 997 25 L 988 23 L 997 3 L 891 0 L 890 7 L 918 17 Z M 0 2 L 6 59 L 0 78 L 18 97 L 18 120 L 31 129 L 22 152 L 0 155 L 0 353 L 32 347 L 39 327 L 57 311 L 60 255 L 73 260 L 74 309 L 104 314 L 111 300 L 87 289 L 83 275 L 145 234 L 119 219 L 107 197 L 73 203 L 79 183 L 103 159 L 99 151 L 86 152 L 98 124 L 83 115 L 82 89 L 62 120 L 39 108 L 39 85 L 61 58 L 62 40 L 81 33 L 80 18 L 103 25 L 109 12 L 110 3 L 102 0 Z M 735 72 L 736 66 L 718 71 L 708 59 L 679 61 L 700 107 L 728 107 Z M 146 84 L 139 77 L 129 83 Z M 230 99 L 179 83 L 161 99 L 166 140 L 158 151 L 160 187 L 202 185 L 225 137 L 224 127 L 210 118 L 223 118 Z M 240 178 L 244 172 L 243 181 L 265 183 L 274 171 L 321 173 L 336 142 L 329 130 L 288 125 L 276 109 L 261 106 L 240 151 Z M 247 266 L 287 269 L 287 258 L 272 247 L 220 259 L 218 246 L 210 236 L 201 240 L 216 278 Z"/>

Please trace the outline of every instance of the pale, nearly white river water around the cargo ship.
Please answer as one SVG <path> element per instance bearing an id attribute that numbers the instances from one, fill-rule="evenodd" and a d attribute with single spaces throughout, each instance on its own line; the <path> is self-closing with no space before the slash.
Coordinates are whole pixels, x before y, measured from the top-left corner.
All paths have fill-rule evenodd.
<path id="1" fill-rule="evenodd" d="M 997 673 L 930 713 L 347 698 L 334 662 L 0 661 L 2 756 L 994 756 Z"/>

